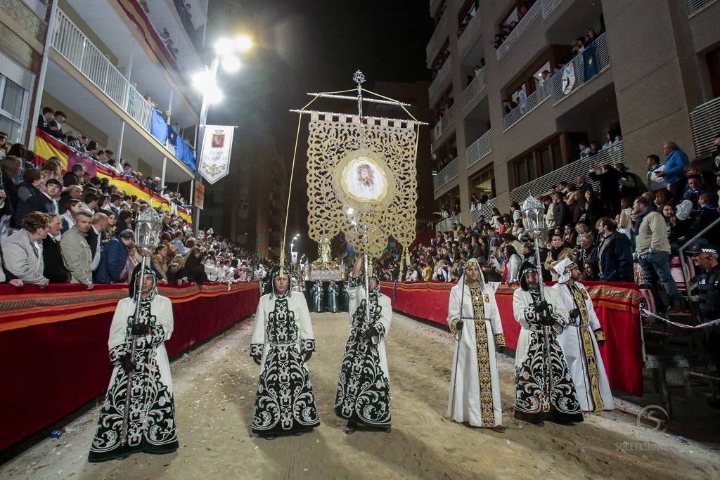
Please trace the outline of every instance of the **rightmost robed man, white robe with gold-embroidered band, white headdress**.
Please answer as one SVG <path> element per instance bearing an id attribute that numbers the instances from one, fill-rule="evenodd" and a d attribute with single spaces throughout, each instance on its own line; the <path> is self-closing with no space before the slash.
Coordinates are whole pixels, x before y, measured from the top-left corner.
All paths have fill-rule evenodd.
<path id="1" fill-rule="evenodd" d="M 560 261 L 554 268 L 560 278 L 552 289 L 557 291 L 563 307 L 570 312 L 569 323 L 557 340 L 567 368 L 570 368 L 577 400 L 583 412 L 611 410 L 615 407 L 613 394 L 598 349 L 598 345 L 605 343 L 605 333 L 595 314 L 593 299 L 585 286 L 577 281 L 582 273 L 570 258 Z"/>

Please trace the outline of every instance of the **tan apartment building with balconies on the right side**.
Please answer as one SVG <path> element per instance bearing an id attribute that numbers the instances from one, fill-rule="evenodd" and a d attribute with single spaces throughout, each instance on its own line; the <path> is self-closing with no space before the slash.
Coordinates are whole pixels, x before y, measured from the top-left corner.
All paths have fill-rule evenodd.
<path id="1" fill-rule="evenodd" d="M 431 0 L 430 14 L 434 197 L 459 211 L 441 229 L 507 212 L 598 164 L 644 176 L 666 140 L 691 160 L 713 148 L 718 0 Z M 586 52 L 573 55 L 586 35 Z M 622 140 L 579 160 L 580 142 L 603 145 L 608 132 Z M 472 194 L 490 201 L 471 209 Z"/>

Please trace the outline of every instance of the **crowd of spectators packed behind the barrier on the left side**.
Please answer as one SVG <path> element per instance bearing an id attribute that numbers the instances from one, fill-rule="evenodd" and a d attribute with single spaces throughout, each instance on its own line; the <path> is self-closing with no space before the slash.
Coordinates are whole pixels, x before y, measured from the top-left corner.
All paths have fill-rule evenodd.
<path id="1" fill-rule="evenodd" d="M 62 137 L 66 140 L 63 122 L 50 123 L 60 117 L 55 113 L 45 110 L 41 119 L 47 123 L 42 127 L 57 138 L 66 135 Z M 272 266 L 214 235 L 212 229 L 193 235 L 176 210 L 151 207 L 107 178 L 91 176 L 82 163 L 65 173 L 56 157 L 38 166 L 34 153 L 21 144 L 5 148 L 6 135 L 0 132 L 0 137 L 5 154 L 0 160 L 0 282 L 43 289 L 48 284 L 84 284 L 92 289 L 95 284 L 126 282 L 142 261 L 135 249 L 135 227 L 138 215 L 148 208 L 155 208 L 161 217 L 160 243 L 149 255 L 148 267 L 162 282 L 250 281 L 263 279 Z M 90 143 L 85 153 L 104 163 L 107 156 L 99 158 L 99 150 L 88 150 Z M 158 178 L 148 177 L 143 185 L 142 176 L 127 164 L 125 176 L 140 188 L 161 191 Z"/>

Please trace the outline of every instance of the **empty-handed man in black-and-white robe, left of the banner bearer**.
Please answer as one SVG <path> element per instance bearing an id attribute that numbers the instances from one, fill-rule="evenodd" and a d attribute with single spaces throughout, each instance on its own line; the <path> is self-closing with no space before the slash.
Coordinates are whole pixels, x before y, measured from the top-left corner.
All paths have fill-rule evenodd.
<path id="1" fill-rule="evenodd" d="M 250 356 L 260 366 L 252 431 L 272 440 L 320 425 L 307 361 L 315 351 L 305 295 L 275 267 L 255 314 Z"/>

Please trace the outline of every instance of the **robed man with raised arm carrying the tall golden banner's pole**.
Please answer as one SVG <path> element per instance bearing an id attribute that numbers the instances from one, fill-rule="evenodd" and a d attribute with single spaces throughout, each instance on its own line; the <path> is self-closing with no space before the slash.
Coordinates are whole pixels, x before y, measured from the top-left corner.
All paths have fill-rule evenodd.
<path id="1" fill-rule="evenodd" d="M 355 261 L 348 278 L 350 335 L 340 366 L 335 415 L 347 420 L 345 433 L 356 427 L 375 427 L 390 432 L 390 373 L 385 355 L 385 336 L 390 330 L 392 306 L 380 293 L 377 276 L 370 273 L 370 293 L 366 294 L 361 274 L 363 255 Z M 369 296 L 370 315 L 366 313 Z"/>

